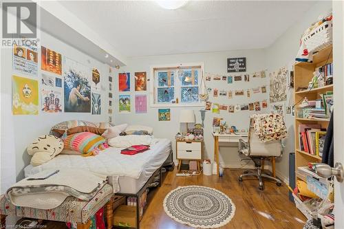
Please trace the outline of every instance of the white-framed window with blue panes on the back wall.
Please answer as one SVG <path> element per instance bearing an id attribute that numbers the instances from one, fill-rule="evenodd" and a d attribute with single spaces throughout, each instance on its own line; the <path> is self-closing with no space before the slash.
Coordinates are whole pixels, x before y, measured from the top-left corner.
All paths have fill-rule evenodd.
<path id="1" fill-rule="evenodd" d="M 199 91 L 203 65 L 152 67 L 151 106 L 202 106 Z"/>

